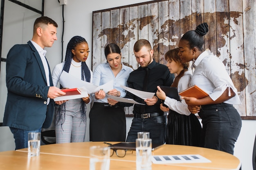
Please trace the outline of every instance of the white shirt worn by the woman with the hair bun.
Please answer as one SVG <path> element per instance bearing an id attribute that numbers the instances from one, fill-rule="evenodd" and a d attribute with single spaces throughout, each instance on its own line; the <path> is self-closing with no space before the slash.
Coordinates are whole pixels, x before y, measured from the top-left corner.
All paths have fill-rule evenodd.
<path id="1" fill-rule="evenodd" d="M 201 89 L 207 92 L 210 98 L 215 101 L 228 88 L 236 93 L 236 96 L 226 100 L 225 103 L 231 105 L 241 104 L 237 89 L 234 86 L 225 65 L 216 56 L 212 55 L 209 50 L 202 52 L 195 62 L 191 65 L 195 68 L 191 78 L 190 86 L 198 85 Z"/>

